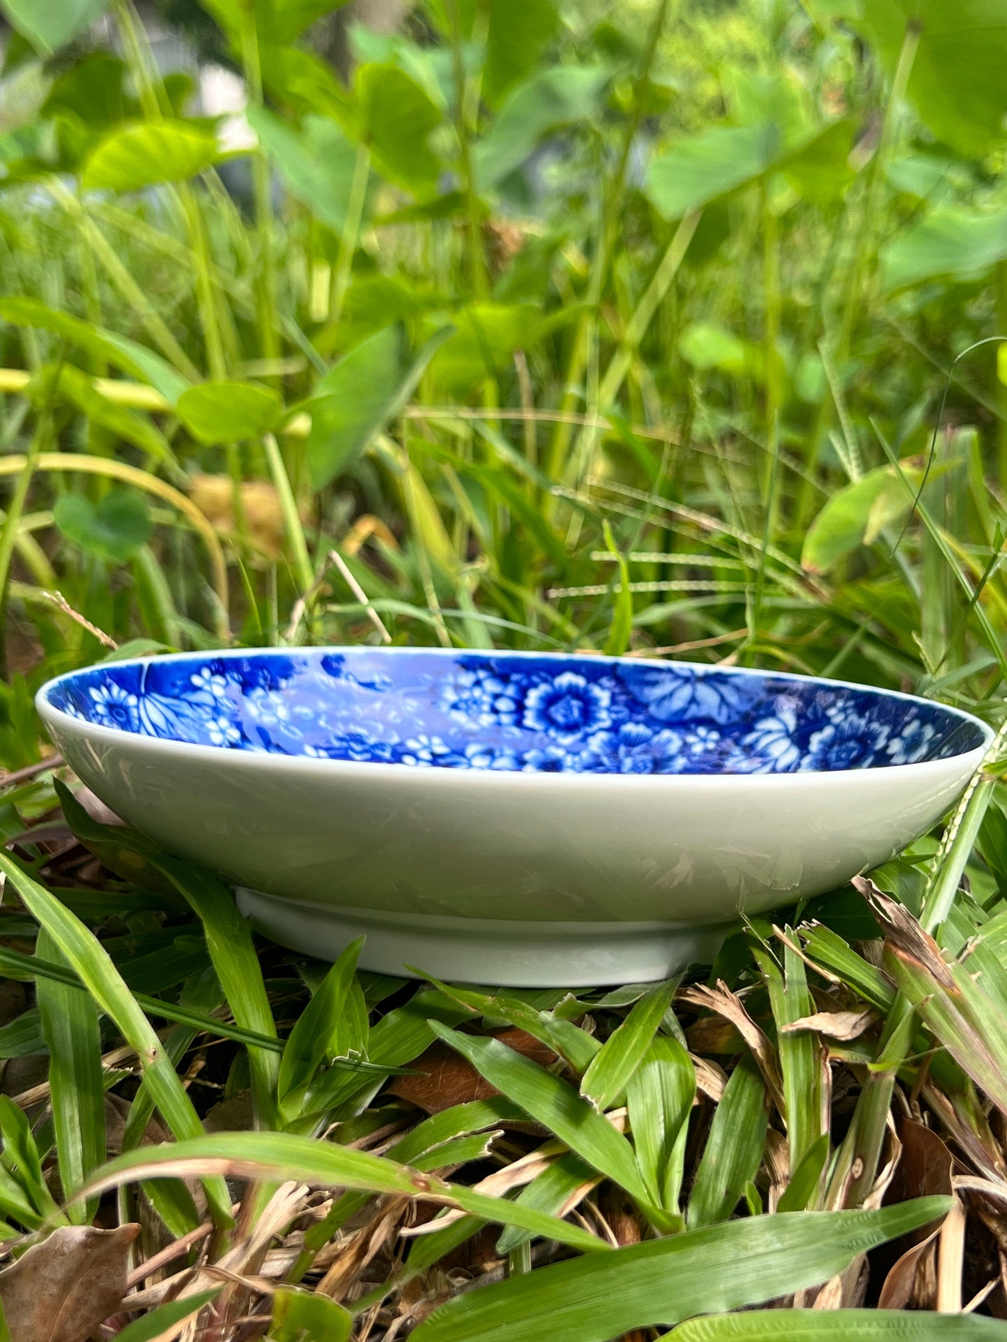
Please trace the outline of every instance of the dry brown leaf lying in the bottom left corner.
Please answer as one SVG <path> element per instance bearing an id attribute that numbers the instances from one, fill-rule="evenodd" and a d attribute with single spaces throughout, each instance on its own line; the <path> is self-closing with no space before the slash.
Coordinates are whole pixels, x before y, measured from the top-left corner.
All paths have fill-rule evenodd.
<path id="1" fill-rule="evenodd" d="M 136 1224 L 60 1225 L 0 1272 L 12 1342 L 85 1342 L 126 1294 Z"/>

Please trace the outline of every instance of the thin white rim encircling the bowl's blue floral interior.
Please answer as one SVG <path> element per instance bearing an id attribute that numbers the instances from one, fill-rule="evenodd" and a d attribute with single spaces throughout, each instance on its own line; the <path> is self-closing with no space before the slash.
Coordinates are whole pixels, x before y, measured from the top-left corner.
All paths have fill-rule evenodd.
<path id="1" fill-rule="evenodd" d="M 563 772 L 546 772 L 546 770 L 505 770 L 505 769 L 438 769 L 428 768 L 422 769 L 407 764 L 392 764 L 392 762 L 377 762 L 367 760 L 328 760 L 328 758 L 314 758 L 311 756 L 303 754 L 270 754 L 267 752 L 259 750 L 231 750 L 226 746 L 204 746 L 196 745 L 189 741 L 176 741 L 171 737 L 149 737 L 140 731 L 124 731 L 119 727 L 106 727 L 97 722 L 87 722 L 83 718 L 77 718 L 70 713 L 64 713 L 63 709 L 56 707 L 50 699 L 50 694 L 66 680 L 73 680 L 75 676 L 85 675 L 90 671 L 111 670 L 114 667 L 146 667 L 152 663 L 162 662 L 187 662 L 193 659 L 204 659 L 205 662 L 216 660 L 220 658 L 252 658 L 252 656 L 266 656 L 266 658 L 281 658 L 281 656 L 297 656 L 298 654 L 310 654 L 313 656 L 326 656 L 338 655 L 345 652 L 368 652 L 377 654 L 380 656 L 395 656 L 395 655 L 416 655 L 422 654 L 426 656 L 451 656 L 451 658 L 479 658 L 483 660 L 490 660 L 491 658 L 518 658 L 529 660 L 545 660 L 545 662 L 592 662 L 592 663 L 608 663 L 619 664 L 627 663 L 639 667 L 654 667 L 654 668 L 667 668 L 669 666 L 687 667 L 690 671 L 698 671 L 704 675 L 712 672 L 726 674 L 732 676 L 763 676 L 763 678 L 779 678 L 783 680 L 794 680 L 800 684 L 819 684 L 830 686 L 841 690 L 854 690 L 858 692 L 875 694 L 879 698 L 901 699 L 906 703 L 917 705 L 933 705 L 943 709 L 945 713 L 960 722 L 969 723 L 977 727 L 981 733 L 980 745 L 975 746 L 972 750 L 963 750 L 959 754 L 947 756 L 941 760 L 920 760 L 912 764 L 879 764 L 870 769 L 807 769 L 802 772 L 788 772 L 788 773 L 654 773 L 654 774 L 631 774 L 631 773 L 563 773 Z M 416 780 L 424 780 L 428 784 L 434 778 L 443 778 L 443 782 L 434 782 L 434 786 L 444 786 L 448 780 L 458 781 L 459 777 L 466 781 L 474 778 L 486 780 L 489 786 L 504 786 L 509 781 L 513 782 L 514 778 L 528 780 L 522 782 L 522 786 L 530 786 L 532 780 L 548 780 L 545 782 L 546 788 L 555 788 L 556 780 L 564 780 L 567 786 L 577 785 L 584 788 L 608 786 L 611 788 L 612 780 L 619 778 L 623 782 L 618 784 L 624 786 L 626 782 L 635 781 L 636 784 L 643 784 L 647 788 L 663 786 L 665 789 L 678 790 L 683 786 L 702 786 L 709 788 L 712 785 L 717 786 L 737 786 L 748 784 L 752 780 L 759 780 L 763 786 L 785 786 L 785 785 L 802 785 L 807 786 L 811 780 L 851 780 L 853 777 L 866 778 L 871 774 L 885 776 L 890 770 L 897 770 L 900 778 L 914 777 L 920 782 L 924 782 L 928 776 L 934 777 L 940 773 L 945 773 L 949 766 L 957 765 L 961 768 L 967 761 L 975 761 L 969 773 L 979 766 L 980 760 L 986 756 L 990 745 L 995 737 L 994 729 L 983 722 L 981 718 L 976 718 L 971 713 L 965 713 L 963 709 L 956 709 L 949 703 L 943 703 L 940 699 L 925 699 L 922 695 L 905 694 L 901 690 L 886 690 L 882 686 L 871 684 L 858 684 L 855 680 L 836 680 L 830 676 L 815 676 L 804 675 L 803 672 L 791 671 L 765 671 L 760 667 L 718 667 L 709 662 L 678 662 L 674 659 L 661 659 L 661 658 L 619 658 L 610 656 L 606 654 L 595 652 L 533 652 L 533 651 L 510 651 L 506 648 L 430 648 L 430 647 L 412 647 L 412 646 L 396 646 L 396 647 L 383 647 L 372 646 L 367 643 L 344 643 L 344 644 L 314 644 L 306 646 L 299 644 L 290 648 L 279 647 L 265 647 L 265 648 L 209 648 L 205 651 L 192 651 L 192 652 L 166 652 L 154 654 L 152 656 L 138 656 L 138 658 L 122 658 L 118 662 L 94 662 L 87 667 L 77 667 L 74 671 L 63 671 L 58 676 L 46 680 L 38 691 L 35 692 L 35 707 L 39 717 L 43 719 L 46 726 L 50 726 L 50 719 L 54 723 L 63 725 L 64 730 L 77 733 L 82 737 L 94 737 L 98 741 L 107 741 L 110 743 L 134 743 L 144 750 L 153 752 L 154 754 L 171 754 L 176 758 L 181 757 L 192 760 L 204 760 L 208 764 L 220 764 L 223 758 L 232 762 L 236 768 L 255 768 L 266 770 L 277 770 L 289 766 L 298 768 L 301 770 L 307 770 L 320 777 L 338 777 L 349 773 L 349 777 L 364 778 L 381 778 L 389 777 L 389 770 L 392 776 L 399 778 L 412 777 Z M 240 765 L 238 761 L 246 761 Z M 489 780 L 495 780 L 495 782 L 489 782 Z M 772 780 L 772 784 L 771 784 Z M 541 784 L 540 784 L 541 785 Z"/>

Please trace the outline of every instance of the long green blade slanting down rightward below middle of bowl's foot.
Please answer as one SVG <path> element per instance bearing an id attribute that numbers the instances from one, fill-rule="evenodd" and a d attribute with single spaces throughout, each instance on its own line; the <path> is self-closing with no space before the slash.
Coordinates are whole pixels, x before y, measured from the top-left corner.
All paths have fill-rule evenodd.
<path id="1" fill-rule="evenodd" d="M 568 1082 L 497 1039 L 463 1035 L 446 1029 L 438 1021 L 431 1021 L 431 1029 L 438 1039 L 467 1057 L 490 1086 L 555 1133 L 588 1165 L 615 1180 L 640 1202 L 647 1201 L 632 1147 Z"/>

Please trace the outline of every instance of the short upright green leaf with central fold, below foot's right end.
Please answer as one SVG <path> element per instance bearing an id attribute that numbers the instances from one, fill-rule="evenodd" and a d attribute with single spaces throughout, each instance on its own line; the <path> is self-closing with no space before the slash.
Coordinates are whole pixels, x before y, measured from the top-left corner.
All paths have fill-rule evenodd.
<path id="1" fill-rule="evenodd" d="M 677 1039 L 658 1035 L 626 1087 L 636 1164 L 655 1206 L 678 1213 L 696 1068 Z"/>

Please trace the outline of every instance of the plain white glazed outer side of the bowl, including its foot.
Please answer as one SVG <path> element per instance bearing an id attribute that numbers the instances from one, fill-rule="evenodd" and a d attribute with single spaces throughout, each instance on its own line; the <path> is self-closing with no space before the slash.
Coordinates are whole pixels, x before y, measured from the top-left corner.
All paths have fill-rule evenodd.
<path id="1" fill-rule="evenodd" d="M 239 902 L 275 941 L 333 957 L 365 933 L 367 968 L 514 986 L 709 961 L 740 913 L 839 886 L 924 833 L 983 756 L 779 774 L 412 769 L 117 731 L 47 688 L 39 713 L 75 773 L 248 887 Z"/>

